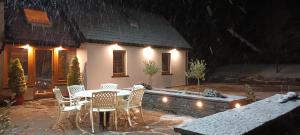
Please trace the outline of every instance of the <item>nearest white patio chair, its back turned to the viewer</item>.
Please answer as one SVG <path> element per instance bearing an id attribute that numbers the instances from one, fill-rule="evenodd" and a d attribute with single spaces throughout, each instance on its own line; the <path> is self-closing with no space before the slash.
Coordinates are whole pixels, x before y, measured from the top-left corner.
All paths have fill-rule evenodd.
<path id="1" fill-rule="evenodd" d="M 117 92 L 102 91 L 92 95 L 90 120 L 92 123 L 92 132 L 94 133 L 93 112 L 104 112 L 104 126 L 106 124 L 106 112 L 114 112 L 115 129 L 117 130 Z"/>

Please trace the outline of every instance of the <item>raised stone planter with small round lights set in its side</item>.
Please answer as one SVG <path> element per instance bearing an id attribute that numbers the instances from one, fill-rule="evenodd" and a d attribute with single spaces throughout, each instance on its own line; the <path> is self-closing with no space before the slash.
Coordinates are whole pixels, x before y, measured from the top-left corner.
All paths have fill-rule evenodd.
<path id="1" fill-rule="evenodd" d="M 215 98 L 170 89 L 146 90 L 143 98 L 143 108 L 178 115 L 204 117 L 231 109 L 235 103 L 246 104 L 245 97 L 226 96 L 227 98 Z M 164 102 L 163 100 L 167 101 Z"/>

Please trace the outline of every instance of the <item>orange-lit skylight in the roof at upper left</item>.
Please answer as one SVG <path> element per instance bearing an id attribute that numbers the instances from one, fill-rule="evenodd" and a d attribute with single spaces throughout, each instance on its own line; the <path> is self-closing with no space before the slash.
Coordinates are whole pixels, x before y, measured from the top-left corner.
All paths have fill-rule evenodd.
<path id="1" fill-rule="evenodd" d="M 26 20 L 31 24 L 50 26 L 50 20 L 45 11 L 24 8 Z"/>

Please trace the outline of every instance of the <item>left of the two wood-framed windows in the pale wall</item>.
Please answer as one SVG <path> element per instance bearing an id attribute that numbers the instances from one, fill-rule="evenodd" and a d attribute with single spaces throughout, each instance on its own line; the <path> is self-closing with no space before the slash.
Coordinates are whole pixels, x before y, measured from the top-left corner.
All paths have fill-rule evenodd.
<path id="1" fill-rule="evenodd" d="M 113 51 L 113 76 L 125 76 L 125 53 L 124 50 Z"/>

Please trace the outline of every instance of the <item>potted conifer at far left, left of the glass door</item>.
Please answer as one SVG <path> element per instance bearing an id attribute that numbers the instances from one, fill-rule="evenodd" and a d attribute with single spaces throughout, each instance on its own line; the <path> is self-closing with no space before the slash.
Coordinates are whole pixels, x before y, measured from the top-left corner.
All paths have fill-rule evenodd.
<path id="1" fill-rule="evenodd" d="M 18 58 L 9 62 L 8 87 L 15 97 L 15 105 L 24 103 L 24 93 L 27 90 L 22 64 Z"/>

